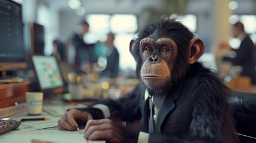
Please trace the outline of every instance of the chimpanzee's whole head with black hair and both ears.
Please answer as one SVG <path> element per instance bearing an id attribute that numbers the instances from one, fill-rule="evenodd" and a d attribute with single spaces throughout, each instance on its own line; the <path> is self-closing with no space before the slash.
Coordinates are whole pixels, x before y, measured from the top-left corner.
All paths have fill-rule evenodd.
<path id="1" fill-rule="evenodd" d="M 138 33 L 129 49 L 140 83 L 151 95 L 162 95 L 180 85 L 205 45 L 180 22 L 160 19 Z"/>

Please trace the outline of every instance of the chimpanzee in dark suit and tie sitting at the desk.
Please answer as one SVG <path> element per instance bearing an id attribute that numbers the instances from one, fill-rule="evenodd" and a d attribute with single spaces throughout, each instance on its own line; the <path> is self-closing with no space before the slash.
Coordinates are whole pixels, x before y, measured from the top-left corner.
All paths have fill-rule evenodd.
<path id="1" fill-rule="evenodd" d="M 70 110 L 58 129 L 85 121 L 86 139 L 109 142 L 238 142 L 230 90 L 198 59 L 203 41 L 175 19 L 153 21 L 130 44 L 140 83 L 119 100 Z M 92 120 L 93 119 L 93 120 Z M 141 129 L 121 121 L 140 119 Z"/>

